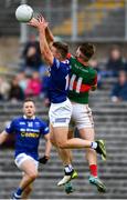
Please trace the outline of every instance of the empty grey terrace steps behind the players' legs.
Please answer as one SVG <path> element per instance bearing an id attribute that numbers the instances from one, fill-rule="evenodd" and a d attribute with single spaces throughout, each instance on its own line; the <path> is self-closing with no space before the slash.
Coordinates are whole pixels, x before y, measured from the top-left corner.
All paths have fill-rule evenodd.
<path id="1" fill-rule="evenodd" d="M 53 149 L 51 160 L 46 166 L 40 166 L 40 177 L 35 181 L 34 192 L 31 198 L 35 199 L 127 199 L 127 103 L 113 103 L 109 101 L 109 89 L 115 79 L 106 80 L 104 88 L 92 94 L 91 107 L 93 108 L 96 138 L 103 138 L 107 146 L 107 161 L 98 159 L 100 178 L 107 186 L 105 194 L 98 194 L 88 183 L 88 167 L 84 162 L 84 151 L 74 150 L 74 166 L 78 171 L 78 179 L 74 181 L 75 192 L 66 196 L 63 188 L 57 188 L 56 182 L 62 177 L 62 166 Z M 20 103 L 1 103 L 0 129 L 4 121 L 19 116 Z M 47 119 L 47 109 L 38 102 L 38 113 Z M 40 153 L 42 154 L 44 142 L 41 141 Z M 0 151 L 0 179 L 2 181 L 0 198 L 8 199 L 20 180 L 20 171 L 14 167 L 12 150 Z"/>

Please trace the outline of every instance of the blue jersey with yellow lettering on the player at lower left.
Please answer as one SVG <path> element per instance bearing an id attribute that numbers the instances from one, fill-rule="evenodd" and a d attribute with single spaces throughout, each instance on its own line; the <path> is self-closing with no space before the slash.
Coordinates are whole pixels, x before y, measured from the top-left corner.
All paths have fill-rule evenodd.
<path id="1" fill-rule="evenodd" d="M 34 119 L 20 117 L 12 120 L 6 131 L 9 134 L 15 133 L 15 157 L 19 153 L 27 153 L 38 160 L 39 140 L 41 136 L 49 133 L 49 127 L 36 117 Z"/>

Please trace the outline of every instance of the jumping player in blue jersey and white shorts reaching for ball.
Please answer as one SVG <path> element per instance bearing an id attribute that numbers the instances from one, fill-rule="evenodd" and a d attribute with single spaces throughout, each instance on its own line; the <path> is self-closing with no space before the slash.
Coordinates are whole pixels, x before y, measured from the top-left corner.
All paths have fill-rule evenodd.
<path id="1" fill-rule="evenodd" d="M 78 138 L 68 140 L 68 123 L 72 114 L 72 104 L 67 99 L 70 63 L 66 57 L 68 48 L 62 42 L 53 42 L 51 48 L 49 47 L 46 40 L 47 22 L 42 17 L 33 18 L 30 24 L 39 30 L 41 53 L 50 66 L 50 131 L 52 143 L 57 147 L 65 166 L 65 176 L 57 184 L 63 186 L 75 177 L 75 171 L 71 164 L 70 150 L 66 150 L 66 148 L 92 148 L 100 154 L 105 154 L 105 152 L 102 151 L 99 142 Z"/>

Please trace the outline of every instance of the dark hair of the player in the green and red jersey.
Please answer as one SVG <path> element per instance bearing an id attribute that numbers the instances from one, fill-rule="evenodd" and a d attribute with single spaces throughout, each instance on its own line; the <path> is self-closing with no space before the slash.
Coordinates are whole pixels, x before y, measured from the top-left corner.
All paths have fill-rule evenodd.
<path id="1" fill-rule="evenodd" d="M 95 53 L 95 46 L 89 42 L 84 42 L 80 46 L 80 50 L 86 60 L 89 60 L 92 56 Z"/>

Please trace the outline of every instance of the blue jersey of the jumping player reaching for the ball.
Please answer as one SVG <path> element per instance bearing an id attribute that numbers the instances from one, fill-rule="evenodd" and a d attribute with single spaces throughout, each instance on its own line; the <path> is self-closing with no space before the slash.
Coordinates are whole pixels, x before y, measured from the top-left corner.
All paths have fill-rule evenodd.
<path id="1" fill-rule="evenodd" d="M 68 60 L 60 62 L 54 58 L 53 66 L 49 68 L 49 98 L 51 102 L 60 103 L 66 100 L 70 70 L 71 67 Z"/>

